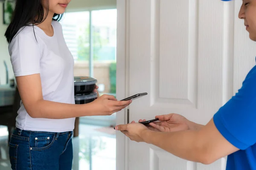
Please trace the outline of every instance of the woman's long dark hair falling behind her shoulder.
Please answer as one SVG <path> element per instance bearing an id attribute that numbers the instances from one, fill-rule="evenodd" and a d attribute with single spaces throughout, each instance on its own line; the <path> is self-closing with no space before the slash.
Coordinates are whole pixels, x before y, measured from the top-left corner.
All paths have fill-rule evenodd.
<path id="1" fill-rule="evenodd" d="M 44 14 L 44 7 L 42 0 L 16 0 L 15 10 L 12 14 L 12 20 L 6 29 L 4 36 L 8 43 L 12 41 L 14 36 L 23 26 L 32 26 L 42 23 L 49 11 L 49 0 L 45 0 L 47 4 L 47 13 Z M 59 21 L 63 14 L 54 14 L 52 20 Z M 35 18 L 37 19 L 35 20 Z M 35 31 L 34 31 L 35 34 Z"/>

